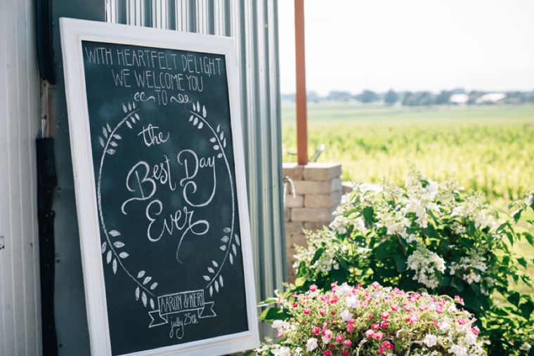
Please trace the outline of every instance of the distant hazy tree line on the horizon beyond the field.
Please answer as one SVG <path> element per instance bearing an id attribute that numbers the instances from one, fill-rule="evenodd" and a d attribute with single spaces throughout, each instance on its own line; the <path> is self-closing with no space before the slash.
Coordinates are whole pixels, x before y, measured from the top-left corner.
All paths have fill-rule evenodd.
<path id="1" fill-rule="evenodd" d="M 364 90 L 356 95 L 349 91 L 330 91 L 320 96 L 315 91 L 306 95 L 308 102 L 349 102 L 383 103 L 384 105 L 428 106 L 428 105 L 491 105 L 491 104 L 523 104 L 534 103 L 534 91 L 465 91 L 462 88 L 452 91 L 443 90 L 439 93 L 431 91 L 401 91 L 390 89 L 386 93 Z M 282 100 L 294 101 L 294 94 L 281 95 Z"/>

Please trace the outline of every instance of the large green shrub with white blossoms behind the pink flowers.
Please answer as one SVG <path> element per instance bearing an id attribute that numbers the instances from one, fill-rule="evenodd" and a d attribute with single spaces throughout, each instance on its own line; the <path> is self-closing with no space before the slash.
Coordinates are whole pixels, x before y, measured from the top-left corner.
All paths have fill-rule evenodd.
<path id="1" fill-rule="evenodd" d="M 533 195 L 512 204 L 511 219 L 453 180 L 438 184 L 415 169 L 404 187 L 386 183 L 376 193 L 356 186 L 330 228 L 308 232 L 308 246 L 297 247 L 292 291 L 377 281 L 458 295 L 478 319 L 490 355 L 534 355 L 534 298 L 514 291 L 519 283 L 532 287 L 522 269 L 532 261 L 512 252 L 521 240 L 534 246 L 533 235 L 514 224 L 521 216 L 533 223 Z"/>

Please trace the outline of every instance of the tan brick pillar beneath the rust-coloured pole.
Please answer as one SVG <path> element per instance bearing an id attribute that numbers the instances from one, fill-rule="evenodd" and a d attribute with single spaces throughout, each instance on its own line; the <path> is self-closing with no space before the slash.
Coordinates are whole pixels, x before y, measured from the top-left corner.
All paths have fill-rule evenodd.
<path id="1" fill-rule="evenodd" d="M 303 230 L 318 230 L 332 222 L 332 213 L 341 202 L 341 164 L 285 163 L 282 168 L 283 176 L 293 180 L 296 194 L 293 197 L 288 184 L 285 195 L 287 281 L 294 282 L 294 244 L 306 246 Z"/>

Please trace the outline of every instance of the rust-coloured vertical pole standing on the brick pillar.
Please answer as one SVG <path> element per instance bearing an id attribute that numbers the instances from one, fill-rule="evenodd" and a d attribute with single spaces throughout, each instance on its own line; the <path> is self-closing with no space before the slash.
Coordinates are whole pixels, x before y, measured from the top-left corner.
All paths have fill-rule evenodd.
<path id="1" fill-rule="evenodd" d="M 295 58 L 297 72 L 297 161 L 308 164 L 306 118 L 306 51 L 304 49 L 304 0 L 295 0 Z"/>

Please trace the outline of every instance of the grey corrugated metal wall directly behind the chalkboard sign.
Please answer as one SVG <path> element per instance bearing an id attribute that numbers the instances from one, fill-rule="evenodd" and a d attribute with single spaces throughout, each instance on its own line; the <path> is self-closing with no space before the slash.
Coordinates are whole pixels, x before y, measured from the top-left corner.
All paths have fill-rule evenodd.
<path id="1" fill-rule="evenodd" d="M 256 294 L 286 279 L 281 202 L 276 0 L 115 0 L 108 21 L 233 37 L 242 63 L 241 103 Z"/>

